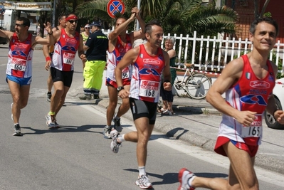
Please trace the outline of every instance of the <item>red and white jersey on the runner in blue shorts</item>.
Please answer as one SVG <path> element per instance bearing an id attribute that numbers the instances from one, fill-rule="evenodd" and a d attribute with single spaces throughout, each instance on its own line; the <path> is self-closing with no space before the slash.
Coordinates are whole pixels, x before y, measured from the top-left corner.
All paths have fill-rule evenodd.
<path id="1" fill-rule="evenodd" d="M 9 44 L 7 75 L 19 78 L 29 78 L 32 75 L 33 49 L 31 48 L 31 33 L 26 41 L 20 42 L 16 33 L 11 38 Z"/>

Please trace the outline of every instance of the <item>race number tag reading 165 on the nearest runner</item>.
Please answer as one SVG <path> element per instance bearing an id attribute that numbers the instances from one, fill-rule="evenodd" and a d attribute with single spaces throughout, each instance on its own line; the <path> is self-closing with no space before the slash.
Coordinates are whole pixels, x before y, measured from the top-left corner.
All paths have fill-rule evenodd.
<path id="1" fill-rule="evenodd" d="M 262 130 L 263 130 L 263 115 L 257 114 L 256 119 L 253 121 L 251 126 L 241 128 L 241 137 L 261 137 Z"/>

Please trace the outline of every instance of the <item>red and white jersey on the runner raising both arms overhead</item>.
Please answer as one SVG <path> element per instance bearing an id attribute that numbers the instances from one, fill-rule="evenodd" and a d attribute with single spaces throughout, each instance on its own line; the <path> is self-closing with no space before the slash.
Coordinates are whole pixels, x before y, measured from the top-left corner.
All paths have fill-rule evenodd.
<path id="1" fill-rule="evenodd" d="M 115 45 L 115 50 L 107 53 L 107 83 L 117 87 L 115 80 L 115 68 L 125 53 L 132 48 L 132 43 L 129 34 L 126 34 L 126 44 L 122 46 L 122 41 L 120 36 L 117 37 L 117 43 Z M 125 84 L 130 80 L 130 67 L 122 70 L 122 83 Z"/>

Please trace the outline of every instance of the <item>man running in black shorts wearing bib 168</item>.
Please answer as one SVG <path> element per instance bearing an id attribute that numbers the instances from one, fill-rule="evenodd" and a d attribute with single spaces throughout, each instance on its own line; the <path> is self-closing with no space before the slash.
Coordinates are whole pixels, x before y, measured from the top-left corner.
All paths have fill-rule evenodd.
<path id="1" fill-rule="evenodd" d="M 172 85 L 169 72 L 169 54 L 161 48 L 164 31 L 160 22 L 150 21 L 146 24 L 144 31 L 147 43 L 127 51 L 120 64 L 115 68 L 119 96 L 123 99 L 130 99 L 130 110 L 137 132 L 121 135 L 117 130 L 112 130 L 110 132 L 112 137 L 110 148 L 112 152 L 117 153 L 122 142 L 137 142 L 139 176 L 136 185 L 141 189 L 152 189 L 145 165 L 147 143 L 156 121 L 161 75 L 164 75 L 162 85 L 165 90 L 172 90 Z M 130 90 L 127 90 L 123 85 L 122 72 L 129 65 L 132 66 L 132 75 Z"/>

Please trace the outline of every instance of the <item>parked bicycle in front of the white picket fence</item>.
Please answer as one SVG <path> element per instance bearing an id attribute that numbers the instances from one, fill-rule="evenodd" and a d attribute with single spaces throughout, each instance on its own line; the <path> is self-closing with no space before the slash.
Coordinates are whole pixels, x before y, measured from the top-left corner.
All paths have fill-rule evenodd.
<path id="1" fill-rule="evenodd" d="M 176 65 L 184 65 L 183 63 L 176 63 Z M 173 68 L 173 67 L 171 67 Z M 174 86 L 177 88 L 177 90 L 184 90 L 184 92 L 189 95 L 189 97 L 200 100 L 206 97 L 209 88 L 211 88 L 212 80 L 208 76 L 206 76 L 203 73 L 197 73 L 194 71 L 194 67 L 186 67 L 185 68 L 174 68 L 177 70 L 185 70 L 184 76 L 182 80 L 174 81 Z M 188 77 L 186 77 L 189 75 Z"/>

